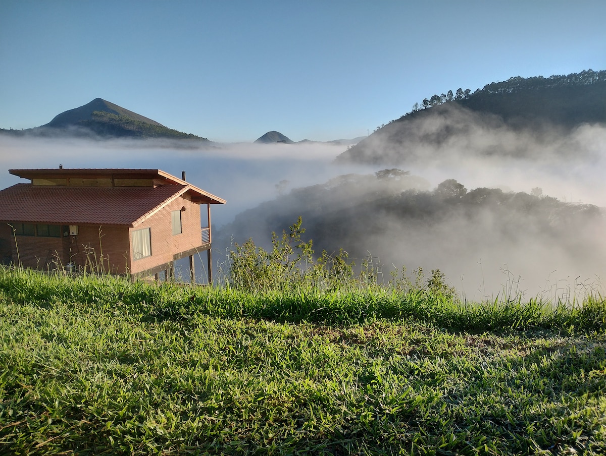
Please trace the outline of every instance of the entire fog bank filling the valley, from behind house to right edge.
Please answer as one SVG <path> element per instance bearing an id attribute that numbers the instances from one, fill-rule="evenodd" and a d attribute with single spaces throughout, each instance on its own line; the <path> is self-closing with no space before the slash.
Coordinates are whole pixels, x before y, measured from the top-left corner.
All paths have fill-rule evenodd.
<path id="1" fill-rule="evenodd" d="M 371 135 L 375 155 L 364 164 L 335 162 L 345 147 L 322 143 L 188 149 L 0 136 L 0 187 L 20 181 L 9 168 L 185 170 L 189 182 L 227 200 L 212 211 L 222 268 L 231 242 L 253 237 L 268 246 L 271 231 L 302 216 L 318 253 L 342 247 L 358 265 L 370 255 L 385 280 L 405 265 L 441 269 L 469 299 L 504 288 L 548 297 L 579 283 L 602 290 L 606 128 L 513 129 L 462 114 L 414 130 L 399 142 Z M 408 174 L 376 174 L 394 168 Z M 440 194 L 447 179 L 465 193 Z"/>

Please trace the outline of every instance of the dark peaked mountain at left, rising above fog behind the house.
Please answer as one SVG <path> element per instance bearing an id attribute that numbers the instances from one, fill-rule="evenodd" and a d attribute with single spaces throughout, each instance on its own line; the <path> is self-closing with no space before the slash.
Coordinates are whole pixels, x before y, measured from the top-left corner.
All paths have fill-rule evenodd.
<path id="1" fill-rule="evenodd" d="M 58 114 L 48 124 L 27 130 L 2 130 L 18 136 L 93 136 L 93 137 L 134 137 L 139 139 L 208 139 L 191 133 L 167 128 L 148 117 L 129 111 L 116 104 L 95 98 L 79 108 Z"/>

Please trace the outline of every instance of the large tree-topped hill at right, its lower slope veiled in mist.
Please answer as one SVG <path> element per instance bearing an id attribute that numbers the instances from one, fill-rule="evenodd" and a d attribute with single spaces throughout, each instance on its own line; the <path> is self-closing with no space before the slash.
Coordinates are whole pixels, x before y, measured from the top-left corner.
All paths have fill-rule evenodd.
<path id="1" fill-rule="evenodd" d="M 512 139 L 547 139 L 584 124 L 606 124 L 606 71 L 585 70 L 567 76 L 510 78 L 473 93 L 435 94 L 404 116 L 377 130 L 338 158 L 338 162 L 410 164 L 440 159 L 454 148 L 484 155 L 528 156 L 532 148 L 494 140 L 496 132 Z M 482 137 L 485 145 L 482 146 Z M 485 139 L 488 139 L 487 141 Z M 435 155 L 436 151 L 438 156 Z"/>

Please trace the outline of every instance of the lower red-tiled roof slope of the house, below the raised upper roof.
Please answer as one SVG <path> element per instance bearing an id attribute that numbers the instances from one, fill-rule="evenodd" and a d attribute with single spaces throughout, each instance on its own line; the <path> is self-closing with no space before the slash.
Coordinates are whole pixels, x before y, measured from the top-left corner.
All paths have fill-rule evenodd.
<path id="1" fill-rule="evenodd" d="M 0 191 L 0 220 L 55 225 L 128 225 L 146 219 L 191 185 L 156 188 L 35 187 L 18 183 Z"/>

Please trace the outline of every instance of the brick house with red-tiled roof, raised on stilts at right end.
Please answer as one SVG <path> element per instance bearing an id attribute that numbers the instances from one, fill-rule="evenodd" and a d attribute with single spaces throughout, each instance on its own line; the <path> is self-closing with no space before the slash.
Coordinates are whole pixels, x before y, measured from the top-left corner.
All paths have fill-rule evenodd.
<path id="1" fill-rule="evenodd" d="M 30 179 L 0 191 L 0 260 L 25 268 L 64 267 L 134 277 L 165 271 L 207 252 L 210 205 L 225 200 L 161 170 L 9 170 Z M 201 228 L 201 205 L 206 205 Z"/>

